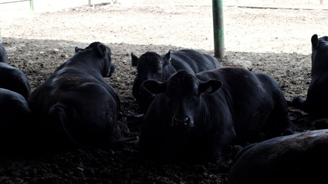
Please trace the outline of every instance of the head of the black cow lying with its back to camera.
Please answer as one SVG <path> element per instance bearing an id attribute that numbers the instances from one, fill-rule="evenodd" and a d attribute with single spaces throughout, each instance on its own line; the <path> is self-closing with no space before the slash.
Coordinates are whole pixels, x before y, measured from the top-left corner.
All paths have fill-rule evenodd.
<path id="1" fill-rule="evenodd" d="M 112 62 L 111 58 L 111 49 L 105 44 L 99 41 L 95 41 L 90 43 L 89 46 L 85 49 L 75 47 L 75 54 L 77 55 L 79 53 L 83 53 L 84 51 L 90 50 L 93 51 L 93 57 L 103 59 L 103 62 L 99 63 L 99 65 L 102 67 L 100 68 L 101 75 L 103 75 L 103 77 L 111 77 L 115 71 L 115 64 Z"/>

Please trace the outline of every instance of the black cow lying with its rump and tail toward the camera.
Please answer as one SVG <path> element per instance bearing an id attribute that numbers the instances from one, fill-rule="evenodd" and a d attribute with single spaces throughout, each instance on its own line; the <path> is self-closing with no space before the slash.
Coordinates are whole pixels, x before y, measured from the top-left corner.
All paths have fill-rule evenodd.
<path id="1" fill-rule="evenodd" d="M 93 42 L 61 64 L 28 99 L 40 139 L 50 146 L 110 146 L 127 130 L 113 73 L 111 49 Z M 68 144 L 65 144 L 68 143 Z"/>

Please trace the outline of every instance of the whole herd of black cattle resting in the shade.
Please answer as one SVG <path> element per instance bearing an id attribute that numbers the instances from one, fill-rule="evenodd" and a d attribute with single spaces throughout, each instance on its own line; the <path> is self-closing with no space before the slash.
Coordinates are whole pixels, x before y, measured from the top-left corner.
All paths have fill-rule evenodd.
<path id="1" fill-rule="evenodd" d="M 315 34 L 311 42 L 308 94 L 293 100 L 269 75 L 221 66 L 195 50 L 131 53 L 137 68 L 132 94 L 145 112 L 140 158 L 187 164 L 233 159 L 228 183 L 323 183 L 328 37 Z M 74 56 L 30 91 L 27 77 L 8 64 L 0 44 L 1 139 L 19 139 L 16 149 L 30 139 L 60 149 L 110 148 L 124 141 L 127 119 L 117 91 L 104 79 L 114 70 L 111 49 L 93 42 L 76 47 Z M 322 118 L 323 128 L 295 133 L 289 106 Z"/>

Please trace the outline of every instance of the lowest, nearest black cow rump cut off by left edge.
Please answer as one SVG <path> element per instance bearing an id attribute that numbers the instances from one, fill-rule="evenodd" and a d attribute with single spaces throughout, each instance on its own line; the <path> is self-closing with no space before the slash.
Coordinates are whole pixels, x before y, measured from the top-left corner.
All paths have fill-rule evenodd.
<path id="1" fill-rule="evenodd" d="M 33 113 L 26 99 L 11 90 L 0 88 L 0 155 L 23 154 L 35 134 Z"/>

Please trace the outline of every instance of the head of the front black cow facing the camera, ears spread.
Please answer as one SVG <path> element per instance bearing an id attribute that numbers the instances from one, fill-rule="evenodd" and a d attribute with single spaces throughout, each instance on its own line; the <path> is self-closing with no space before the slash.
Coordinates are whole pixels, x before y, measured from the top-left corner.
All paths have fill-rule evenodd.
<path id="1" fill-rule="evenodd" d="M 166 108 L 171 118 L 170 126 L 193 128 L 194 120 L 200 115 L 201 108 L 208 108 L 201 104 L 202 96 L 217 91 L 222 86 L 222 82 L 218 80 L 203 82 L 195 75 L 180 70 L 164 82 L 147 80 L 143 85 L 153 94 L 166 94 Z"/>

